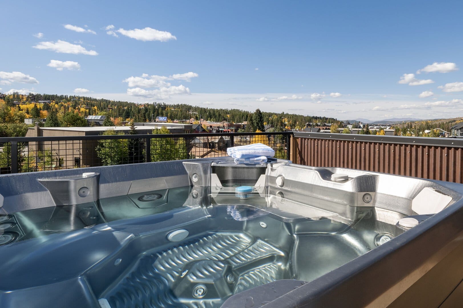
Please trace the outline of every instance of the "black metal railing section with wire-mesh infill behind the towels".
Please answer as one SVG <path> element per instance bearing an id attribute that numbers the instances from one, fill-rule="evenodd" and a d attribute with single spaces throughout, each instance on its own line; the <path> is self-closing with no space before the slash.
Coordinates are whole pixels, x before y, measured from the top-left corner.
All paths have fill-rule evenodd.
<path id="1" fill-rule="evenodd" d="M 263 143 L 289 159 L 292 132 L 0 138 L 0 173 L 223 157 L 237 145 Z"/>

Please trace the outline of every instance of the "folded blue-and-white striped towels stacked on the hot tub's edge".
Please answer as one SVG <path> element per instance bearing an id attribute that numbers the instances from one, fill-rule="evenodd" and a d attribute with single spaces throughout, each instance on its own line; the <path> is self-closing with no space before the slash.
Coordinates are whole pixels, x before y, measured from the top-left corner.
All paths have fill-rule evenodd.
<path id="1" fill-rule="evenodd" d="M 235 158 L 235 163 L 267 163 L 267 157 L 274 157 L 275 151 L 261 143 L 240 145 L 227 149 L 227 154 Z"/>

